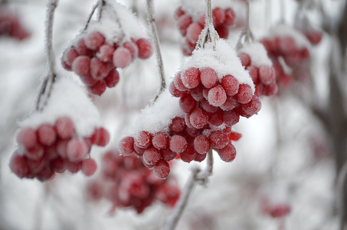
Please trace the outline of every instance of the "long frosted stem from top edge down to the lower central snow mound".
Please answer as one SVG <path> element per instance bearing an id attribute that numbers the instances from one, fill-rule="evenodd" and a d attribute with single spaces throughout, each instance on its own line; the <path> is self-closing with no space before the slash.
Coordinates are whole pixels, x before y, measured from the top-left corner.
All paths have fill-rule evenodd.
<path id="1" fill-rule="evenodd" d="M 159 36 L 158 36 L 158 31 L 155 25 L 154 6 L 153 6 L 152 0 L 146 0 L 146 14 L 147 14 L 148 25 L 151 31 L 152 42 L 154 43 L 154 47 L 155 47 L 156 61 L 159 68 L 159 75 L 161 79 L 160 89 L 156 93 L 156 96 L 153 99 L 153 102 L 154 102 L 156 101 L 156 99 L 158 99 L 160 93 L 166 88 L 166 83 L 165 83 L 163 60 L 161 57 L 161 51 L 159 46 Z"/>

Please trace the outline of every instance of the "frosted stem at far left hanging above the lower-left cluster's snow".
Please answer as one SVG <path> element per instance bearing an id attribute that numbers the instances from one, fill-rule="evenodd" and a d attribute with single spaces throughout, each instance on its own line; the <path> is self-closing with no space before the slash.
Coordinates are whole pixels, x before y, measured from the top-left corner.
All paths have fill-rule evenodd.
<path id="1" fill-rule="evenodd" d="M 42 110 L 46 105 L 49 95 L 51 93 L 54 81 L 56 80 L 55 68 L 55 58 L 53 51 L 53 18 L 54 10 L 58 6 L 58 0 L 50 0 L 47 3 L 47 27 L 46 27 L 46 49 L 47 49 L 47 61 L 48 61 L 48 75 L 43 80 L 41 84 L 41 89 L 39 96 L 36 101 L 36 110 Z"/>

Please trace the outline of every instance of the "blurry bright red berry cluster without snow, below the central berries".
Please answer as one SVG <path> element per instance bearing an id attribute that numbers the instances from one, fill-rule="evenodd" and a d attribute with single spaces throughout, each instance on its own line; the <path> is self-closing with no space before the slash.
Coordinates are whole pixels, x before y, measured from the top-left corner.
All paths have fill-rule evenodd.
<path id="1" fill-rule="evenodd" d="M 145 167 L 141 158 L 122 157 L 117 150 L 108 151 L 102 159 L 101 178 L 88 185 L 88 194 L 94 200 L 102 197 L 117 207 L 132 207 L 137 213 L 160 200 L 174 207 L 180 189 L 174 178 L 159 180 Z"/>

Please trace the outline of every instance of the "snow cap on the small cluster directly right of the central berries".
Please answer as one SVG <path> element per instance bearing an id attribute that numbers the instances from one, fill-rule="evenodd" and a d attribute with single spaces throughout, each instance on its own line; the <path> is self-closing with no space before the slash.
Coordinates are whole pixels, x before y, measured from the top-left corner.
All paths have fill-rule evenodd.
<path id="1" fill-rule="evenodd" d="M 262 65 L 272 66 L 272 61 L 262 43 L 245 43 L 238 50 L 238 53 L 246 53 L 251 58 L 251 65 L 260 67 Z"/>

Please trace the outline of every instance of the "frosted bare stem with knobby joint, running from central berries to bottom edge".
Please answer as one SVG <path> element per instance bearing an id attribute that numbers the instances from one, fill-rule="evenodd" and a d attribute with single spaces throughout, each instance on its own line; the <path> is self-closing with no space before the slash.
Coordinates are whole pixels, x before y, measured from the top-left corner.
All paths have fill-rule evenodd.
<path id="1" fill-rule="evenodd" d="M 212 156 L 212 148 L 207 153 L 207 166 L 204 171 L 201 171 L 199 167 L 195 167 L 192 169 L 192 174 L 189 177 L 185 188 L 181 194 L 181 197 L 177 201 L 175 209 L 168 216 L 166 223 L 164 225 L 164 230 L 174 230 L 177 226 L 177 223 L 182 216 L 182 213 L 187 206 L 189 196 L 191 195 L 193 188 L 197 183 L 204 184 L 206 179 L 212 174 L 213 168 L 213 156 Z"/>

